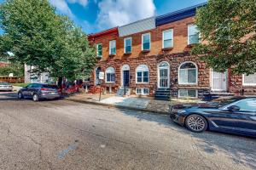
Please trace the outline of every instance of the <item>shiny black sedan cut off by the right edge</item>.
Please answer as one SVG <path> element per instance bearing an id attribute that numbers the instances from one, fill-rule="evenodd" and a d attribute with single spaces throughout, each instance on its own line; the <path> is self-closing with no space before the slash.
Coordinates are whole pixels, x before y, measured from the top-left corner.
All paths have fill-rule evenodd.
<path id="1" fill-rule="evenodd" d="M 256 97 L 231 97 L 205 104 L 173 105 L 173 122 L 201 133 L 205 130 L 256 137 Z"/>

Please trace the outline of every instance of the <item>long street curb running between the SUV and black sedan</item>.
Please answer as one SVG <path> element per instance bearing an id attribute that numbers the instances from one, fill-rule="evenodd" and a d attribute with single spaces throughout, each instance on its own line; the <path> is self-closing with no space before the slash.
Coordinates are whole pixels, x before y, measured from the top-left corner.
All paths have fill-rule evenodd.
<path id="1" fill-rule="evenodd" d="M 130 106 L 124 106 L 124 105 L 102 104 L 102 103 L 98 103 L 98 102 L 86 101 L 86 100 L 80 100 L 80 99 L 67 99 L 66 98 L 66 100 L 77 102 L 77 103 L 82 103 L 82 104 L 102 105 L 102 106 L 108 106 L 108 107 L 113 107 L 113 108 L 118 108 L 118 109 L 126 109 L 126 110 L 131 110 L 131 111 L 144 111 L 144 112 L 151 112 L 151 113 L 156 113 L 156 114 L 161 114 L 161 115 L 169 114 L 166 111 L 152 111 L 152 110 L 148 110 L 148 109 L 142 109 L 142 108 L 136 108 L 136 107 L 130 107 Z"/>

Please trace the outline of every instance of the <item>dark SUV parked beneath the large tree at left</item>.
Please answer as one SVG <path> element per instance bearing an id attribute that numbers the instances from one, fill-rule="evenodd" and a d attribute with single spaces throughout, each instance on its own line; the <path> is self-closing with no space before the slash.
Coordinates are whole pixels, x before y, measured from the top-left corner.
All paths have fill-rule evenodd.
<path id="1" fill-rule="evenodd" d="M 18 99 L 32 98 L 33 101 L 39 99 L 58 99 L 61 97 L 61 90 L 56 85 L 32 83 L 21 88 L 18 92 Z"/>

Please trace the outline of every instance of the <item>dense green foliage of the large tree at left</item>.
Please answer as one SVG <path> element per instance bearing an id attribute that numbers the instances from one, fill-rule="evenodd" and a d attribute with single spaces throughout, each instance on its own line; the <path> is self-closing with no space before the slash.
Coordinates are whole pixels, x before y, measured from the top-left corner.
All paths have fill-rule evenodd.
<path id="1" fill-rule="evenodd" d="M 84 32 L 56 14 L 48 0 L 6 0 L 0 5 L 0 26 L 0 52 L 10 51 L 15 55 L 9 60 L 34 65 L 35 74 L 74 80 L 96 64 Z"/>

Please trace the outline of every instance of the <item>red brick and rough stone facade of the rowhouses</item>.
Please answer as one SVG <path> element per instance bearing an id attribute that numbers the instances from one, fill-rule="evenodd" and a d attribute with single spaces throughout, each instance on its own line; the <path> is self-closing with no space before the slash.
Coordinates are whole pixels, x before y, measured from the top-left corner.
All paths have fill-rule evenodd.
<path id="1" fill-rule="evenodd" d="M 211 71 L 207 65 L 195 56 L 189 54 L 188 46 L 188 25 L 193 23 L 193 17 L 177 20 L 166 25 L 157 26 L 153 30 L 138 32 L 126 37 L 132 38 L 132 52 L 124 54 L 124 38 L 119 37 L 117 31 L 105 32 L 101 36 L 91 35 L 89 37 L 92 44 L 102 43 L 102 59 L 99 59 L 97 67 L 101 67 L 101 71 L 106 71 L 108 66 L 112 66 L 115 70 L 115 82 L 106 83 L 102 81 L 103 87 L 111 87 L 113 91 L 121 87 L 121 68 L 123 65 L 130 66 L 130 86 L 132 93 L 135 94 L 136 88 L 149 88 L 150 95 L 154 95 L 158 82 L 158 65 L 161 61 L 166 61 L 170 65 L 170 87 L 172 96 L 177 97 L 178 89 L 196 89 L 198 97 L 211 91 Z M 173 29 L 173 48 L 168 50 L 162 49 L 162 31 Z M 148 53 L 142 52 L 142 35 L 143 33 L 151 34 L 151 49 Z M 109 56 L 109 41 L 116 40 L 116 55 Z M 186 61 L 192 61 L 198 68 L 198 81 L 195 85 L 178 84 L 178 68 Z M 136 83 L 136 69 L 138 65 L 148 65 L 149 82 Z M 95 82 L 96 71 L 92 75 L 92 83 Z M 234 76 L 228 72 L 227 92 L 238 94 L 242 89 L 245 94 L 256 94 L 256 86 L 243 87 L 242 76 Z"/>

